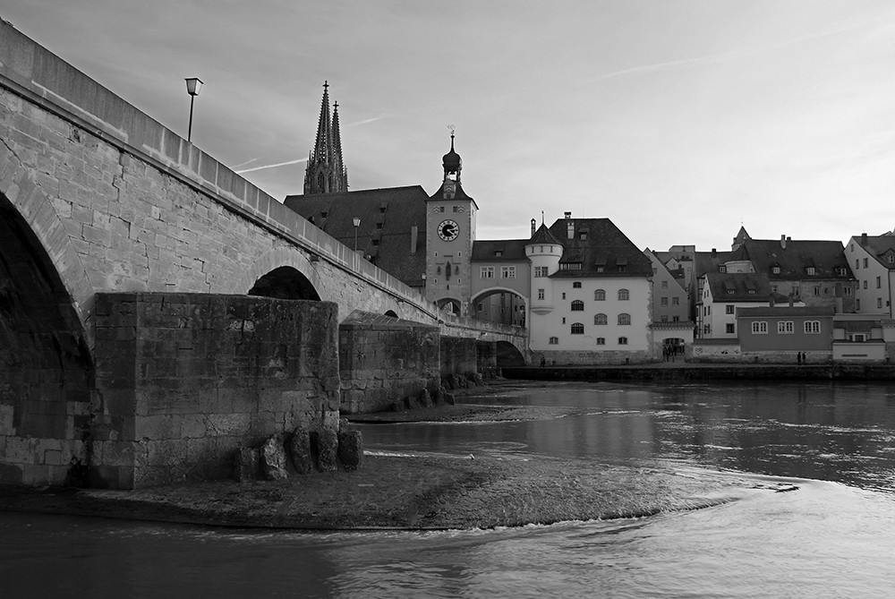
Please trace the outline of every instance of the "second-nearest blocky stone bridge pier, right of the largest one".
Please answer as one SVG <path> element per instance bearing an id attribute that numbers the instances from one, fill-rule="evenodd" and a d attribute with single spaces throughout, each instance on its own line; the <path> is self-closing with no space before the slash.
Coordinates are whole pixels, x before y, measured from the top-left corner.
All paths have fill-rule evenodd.
<path id="1" fill-rule="evenodd" d="M 375 314 L 339 325 L 341 410 L 364 414 L 439 388 L 439 329 Z"/>

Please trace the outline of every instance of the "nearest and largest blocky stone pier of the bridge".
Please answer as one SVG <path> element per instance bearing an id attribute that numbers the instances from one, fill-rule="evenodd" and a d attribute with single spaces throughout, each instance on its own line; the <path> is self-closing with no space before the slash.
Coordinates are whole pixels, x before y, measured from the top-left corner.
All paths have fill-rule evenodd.
<path id="1" fill-rule="evenodd" d="M 338 428 L 337 307 L 208 294 L 98 294 L 91 486 L 230 474 L 269 435 Z"/>

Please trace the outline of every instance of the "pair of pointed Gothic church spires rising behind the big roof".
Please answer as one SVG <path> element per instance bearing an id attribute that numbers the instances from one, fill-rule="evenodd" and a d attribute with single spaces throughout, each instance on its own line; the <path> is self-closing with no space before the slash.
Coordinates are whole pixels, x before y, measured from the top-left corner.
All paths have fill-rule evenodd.
<path id="1" fill-rule="evenodd" d="M 348 191 L 348 170 L 342 162 L 342 139 L 338 128 L 338 102 L 329 116 L 329 83 L 323 82 L 323 102 L 317 124 L 317 141 L 308 157 L 304 172 L 304 194 L 345 193 Z"/>

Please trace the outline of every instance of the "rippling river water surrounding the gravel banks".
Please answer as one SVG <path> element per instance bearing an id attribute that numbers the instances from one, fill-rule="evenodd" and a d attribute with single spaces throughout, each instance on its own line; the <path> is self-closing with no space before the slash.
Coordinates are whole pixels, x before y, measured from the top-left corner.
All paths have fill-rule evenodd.
<path id="1" fill-rule="evenodd" d="M 439 533 L 311 534 L 0 513 L 4 597 L 892 597 L 895 386 L 524 385 L 525 422 L 363 425 L 367 449 L 661 464 L 746 478 L 695 511 Z"/>

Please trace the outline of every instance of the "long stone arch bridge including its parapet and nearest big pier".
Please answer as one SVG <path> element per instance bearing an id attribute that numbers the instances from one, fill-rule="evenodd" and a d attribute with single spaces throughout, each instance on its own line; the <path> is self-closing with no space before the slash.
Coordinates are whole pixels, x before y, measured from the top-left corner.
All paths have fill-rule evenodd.
<path id="1" fill-rule="evenodd" d="M 6 23 L 0 140 L 0 483 L 220 475 L 299 415 L 337 427 L 352 314 L 473 339 L 473 365 L 524 353 L 524 329 L 440 312 Z"/>

